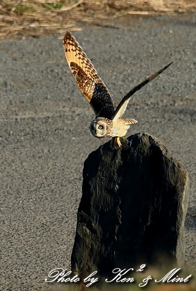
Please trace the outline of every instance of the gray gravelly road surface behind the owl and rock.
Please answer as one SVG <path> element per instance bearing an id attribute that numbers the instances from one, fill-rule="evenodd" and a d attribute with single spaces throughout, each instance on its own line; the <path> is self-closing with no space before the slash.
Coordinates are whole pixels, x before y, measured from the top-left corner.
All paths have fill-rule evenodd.
<path id="1" fill-rule="evenodd" d="M 144 18 L 73 33 L 114 99 L 178 57 L 129 102 L 148 132 L 189 172 L 186 259 L 196 265 L 196 19 Z M 108 141 L 91 136 L 59 35 L 0 41 L 0 290 L 45 290 L 50 270 L 70 268 L 82 167 Z"/>

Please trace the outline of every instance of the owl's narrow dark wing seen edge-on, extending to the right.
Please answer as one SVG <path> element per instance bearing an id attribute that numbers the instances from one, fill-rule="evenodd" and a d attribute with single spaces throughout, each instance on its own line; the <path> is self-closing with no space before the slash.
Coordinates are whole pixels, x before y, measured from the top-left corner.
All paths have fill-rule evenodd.
<path id="1" fill-rule="evenodd" d="M 115 110 L 115 114 L 113 116 L 113 120 L 116 121 L 119 118 L 121 118 L 122 114 L 124 113 L 126 106 L 128 104 L 128 101 L 130 99 L 131 96 L 133 96 L 133 94 L 135 94 L 138 90 L 140 90 L 142 87 L 144 87 L 146 84 L 148 84 L 150 81 L 152 81 L 153 79 L 155 79 L 160 73 L 162 73 L 166 68 L 168 68 L 174 61 L 172 61 L 171 63 L 169 63 L 168 65 L 166 65 L 164 68 L 160 69 L 157 73 L 153 74 L 151 77 L 147 78 L 146 80 L 144 80 L 142 83 L 140 83 L 139 85 L 137 85 L 136 87 L 134 87 L 131 91 L 129 91 L 120 101 L 120 103 L 118 104 L 116 110 Z"/>

